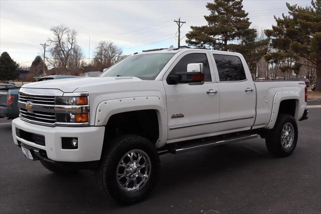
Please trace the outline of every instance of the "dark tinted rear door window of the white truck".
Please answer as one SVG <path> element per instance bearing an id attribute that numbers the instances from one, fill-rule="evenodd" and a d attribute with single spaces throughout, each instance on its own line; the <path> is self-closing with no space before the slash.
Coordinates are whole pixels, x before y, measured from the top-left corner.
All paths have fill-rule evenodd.
<path id="1" fill-rule="evenodd" d="M 245 71 L 241 59 L 237 56 L 213 54 L 220 81 L 245 80 Z"/>

